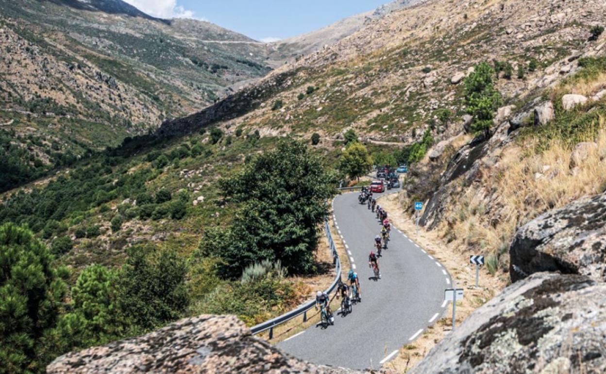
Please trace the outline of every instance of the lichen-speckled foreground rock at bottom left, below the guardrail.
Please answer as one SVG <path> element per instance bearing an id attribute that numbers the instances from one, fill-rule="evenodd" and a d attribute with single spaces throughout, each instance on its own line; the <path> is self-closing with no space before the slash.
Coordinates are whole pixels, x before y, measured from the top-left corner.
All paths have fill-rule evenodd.
<path id="1" fill-rule="evenodd" d="M 234 316 L 181 319 L 139 338 L 68 353 L 47 367 L 59 373 L 360 373 L 316 366 L 282 353 Z"/>

